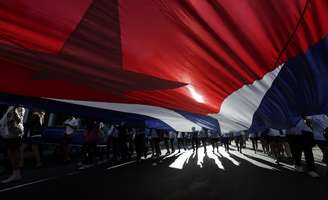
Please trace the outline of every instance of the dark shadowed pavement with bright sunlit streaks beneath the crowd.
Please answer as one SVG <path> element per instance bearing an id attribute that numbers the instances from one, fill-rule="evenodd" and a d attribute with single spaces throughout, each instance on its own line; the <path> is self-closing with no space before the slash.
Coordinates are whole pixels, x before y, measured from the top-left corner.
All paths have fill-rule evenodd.
<path id="1" fill-rule="evenodd" d="M 165 152 L 165 151 L 164 151 Z M 319 157 L 319 156 L 316 156 Z M 105 163 L 83 171 L 74 165 L 26 170 L 24 180 L 0 185 L 1 199 L 325 199 L 328 177 L 313 179 L 277 166 L 264 154 L 244 154 L 223 148 L 199 149 L 151 160 Z M 317 167 L 321 174 L 325 167 Z M 1 179 L 3 178 L 0 177 Z"/>

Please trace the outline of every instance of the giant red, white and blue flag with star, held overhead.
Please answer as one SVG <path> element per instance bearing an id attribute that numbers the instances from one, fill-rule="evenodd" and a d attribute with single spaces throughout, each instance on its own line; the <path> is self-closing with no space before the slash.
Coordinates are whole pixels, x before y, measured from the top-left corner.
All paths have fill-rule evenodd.
<path id="1" fill-rule="evenodd" d="M 327 33 L 327 0 L 2 0 L 0 100 L 287 128 L 328 112 Z"/>

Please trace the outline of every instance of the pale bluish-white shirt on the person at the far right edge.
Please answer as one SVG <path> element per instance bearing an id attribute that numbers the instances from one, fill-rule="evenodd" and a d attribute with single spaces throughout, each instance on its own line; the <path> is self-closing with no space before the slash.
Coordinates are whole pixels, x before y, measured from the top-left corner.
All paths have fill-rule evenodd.
<path id="1" fill-rule="evenodd" d="M 311 122 L 314 139 L 326 141 L 323 133 L 328 127 L 328 117 L 326 115 L 314 115 L 307 117 L 307 119 Z"/>

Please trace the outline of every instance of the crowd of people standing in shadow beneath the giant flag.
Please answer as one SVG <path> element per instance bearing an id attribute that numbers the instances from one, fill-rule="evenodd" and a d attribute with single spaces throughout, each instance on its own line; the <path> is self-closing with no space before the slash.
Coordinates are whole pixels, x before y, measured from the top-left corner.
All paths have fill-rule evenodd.
<path id="1" fill-rule="evenodd" d="M 42 142 L 42 133 L 45 128 L 45 112 L 35 111 L 24 123 L 25 109 L 21 106 L 10 107 L 0 121 L 0 135 L 7 149 L 12 174 L 3 180 L 8 183 L 21 179 L 20 169 L 24 166 L 24 152 L 30 145 L 35 157 L 35 166 L 42 167 L 41 153 L 39 150 Z M 71 162 L 71 143 L 74 134 L 80 126 L 80 120 L 70 117 L 63 123 L 63 138 L 58 144 L 62 160 Z M 203 147 L 212 145 L 213 152 L 219 152 L 223 145 L 225 151 L 231 151 L 230 145 L 235 144 L 237 151 L 243 153 L 248 139 L 252 142 L 255 153 L 262 151 L 273 157 L 277 164 L 282 161 L 293 162 L 295 170 L 304 172 L 301 165 L 302 152 L 307 163 L 308 174 L 319 177 L 316 172 L 312 148 L 318 145 L 323 153 L 322 162 L 328 164 L 328 117 L 317 115 L 304 117 L 288 130 L 269 128 L 260 132 L 239 131 L 221 134 L 217 130 L 203 128 L 196 130 L 192 127 L 190 132 L 176 132 L 154 128 L 131 128 L 124 122 L 110 124 L 88 119 L 84 124 L 84 140 L 80 150 L 79 169 L 95 165 L 99 160 L 130 160 L 142 162 L 142 157 L 153 159 L 153 165 L 161 162 L 162 149 L 166 154 L 181 150 L 192 149 L 198 151 Z M 99 141 L 103 141 L 104 148 L 98 148 Z M 262 149 L 259 150 L 259 142 Z M 162 148 L 163 147 L 163 148 Z"/>

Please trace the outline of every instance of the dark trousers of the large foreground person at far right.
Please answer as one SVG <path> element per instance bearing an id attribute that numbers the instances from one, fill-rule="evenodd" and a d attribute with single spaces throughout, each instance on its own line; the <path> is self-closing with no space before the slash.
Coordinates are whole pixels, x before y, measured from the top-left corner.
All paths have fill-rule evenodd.
<path id="1" fill-rule="evenodd" d="M 312 138 L 311 138 L 312 137 Z M 315 170 L 313 158 L 313 136 L 308 133 L 302 135 L 287 135 L 288 143 L 296 166 L 301 166 L 302 152 L 309 171 Z"/>

